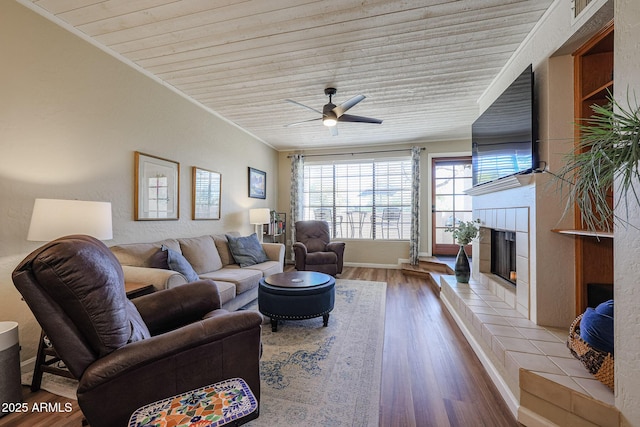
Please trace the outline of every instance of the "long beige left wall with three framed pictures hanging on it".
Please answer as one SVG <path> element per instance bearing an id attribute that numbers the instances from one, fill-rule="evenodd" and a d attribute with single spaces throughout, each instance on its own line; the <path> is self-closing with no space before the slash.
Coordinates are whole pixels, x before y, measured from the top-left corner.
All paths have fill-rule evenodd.
<path id="1" fill-rule="evenodd" d="M 110 201 L 108 245 L 252 232 L 248 209 L 275 207 L 277 152 L 13 1 L 0 2 L 0 320 L 20 324 L 21 357 L 40 330 L 11 271 L 35 198 Z M 180 163 L 180 219 L 134 221 L 134 151 Z M 191 167 L 221 172 L 222 218 L 191 220 Z M 267 199 L 247 196 L 247 167 Z"/>

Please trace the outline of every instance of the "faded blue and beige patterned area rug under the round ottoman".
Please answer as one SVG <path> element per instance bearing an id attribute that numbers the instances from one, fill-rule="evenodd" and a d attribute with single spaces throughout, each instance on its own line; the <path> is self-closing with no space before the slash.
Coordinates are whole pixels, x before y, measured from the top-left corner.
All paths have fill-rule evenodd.
<path id="1" fill-rule="evenodd" d="M 259 426 L 378 426 L 386 283 L 336 282 L 322 318 L 262 328 Z M 257 305 L 250 309 L 257 309 Z"/>

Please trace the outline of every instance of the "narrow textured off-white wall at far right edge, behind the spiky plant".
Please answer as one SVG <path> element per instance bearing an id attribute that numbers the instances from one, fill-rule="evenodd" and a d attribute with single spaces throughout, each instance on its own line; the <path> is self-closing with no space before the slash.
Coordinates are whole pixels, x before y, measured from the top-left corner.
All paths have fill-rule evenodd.
<path id="1" fill-rule="evenodd" d="M 640 100 L 640 2 L 616 0 L 614 96 L 626 105 L 627 94 Z M 632 97 L 633 99 L 633 97 Z M 637 109 L 637 104 L 633 105 Z M 640 182 L 634 187 L 640 188 Z M 637 190 L 636 190 L 637 191 Z M 617 214 L 626 217 L 625 207 Z M 623 425 L 640 425 L 640 209 L 629 207 L 629 227 L 614 230 L 616 406 Z"/>

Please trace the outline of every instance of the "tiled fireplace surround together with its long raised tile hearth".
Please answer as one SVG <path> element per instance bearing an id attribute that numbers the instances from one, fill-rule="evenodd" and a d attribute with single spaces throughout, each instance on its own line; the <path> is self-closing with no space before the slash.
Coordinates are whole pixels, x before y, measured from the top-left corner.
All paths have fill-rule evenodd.
<path id="1" fill-rule="evenodd" d="M 502 181 L 502 180 L 501 180 Z M 469 284 L 442 279 L 441 299 L 518 421 L 527 426 L 617 426 L 613 393 L 571 356 L 573 240 L 544 175 L 514 177 L 472 193 L 480 238 Z M 491 230 L 515 235 L 515 282 L 491 273 Z"/>

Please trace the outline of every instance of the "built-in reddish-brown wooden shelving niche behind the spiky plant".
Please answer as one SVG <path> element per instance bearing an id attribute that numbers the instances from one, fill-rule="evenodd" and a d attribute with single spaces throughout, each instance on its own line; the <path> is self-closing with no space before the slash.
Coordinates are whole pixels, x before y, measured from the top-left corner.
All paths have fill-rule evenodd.
<path id="1" fill-rule="evenodd" d="M 584 124 L 593 114 L 591 106 L 606 105 L 613 94 L 613 22 L 574 53 L 575 122 Z M 576 127 L 576 141 L 580 129 Z M 613 203 L 613 197 L 611 197 Z M 576 209 L 575 228 L 583 227 Z M 576 315 L 587 307 L 588 288 L 613 284 L 613 238 L 611 233 L 574 233 L 576 253 Z"/>

